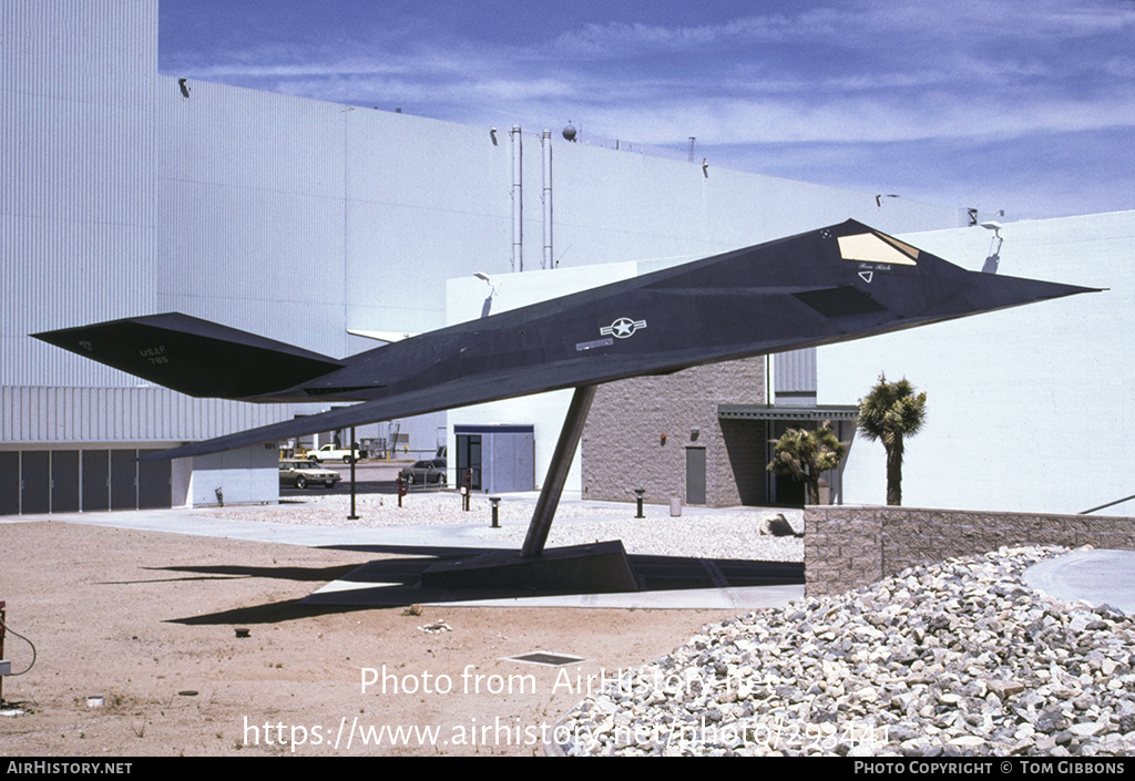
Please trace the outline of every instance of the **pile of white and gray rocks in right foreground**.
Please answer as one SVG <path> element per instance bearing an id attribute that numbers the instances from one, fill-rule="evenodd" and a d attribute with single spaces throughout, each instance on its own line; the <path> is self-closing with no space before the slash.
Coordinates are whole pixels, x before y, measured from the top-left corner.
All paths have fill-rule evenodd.
<path id="1" fill-rule="evenodd" d="M 1135 751 L 1135 623 L 1023 585 L 1063 548 L 916 566 L 706 627 L 561 722 L 569 755 Z"/>

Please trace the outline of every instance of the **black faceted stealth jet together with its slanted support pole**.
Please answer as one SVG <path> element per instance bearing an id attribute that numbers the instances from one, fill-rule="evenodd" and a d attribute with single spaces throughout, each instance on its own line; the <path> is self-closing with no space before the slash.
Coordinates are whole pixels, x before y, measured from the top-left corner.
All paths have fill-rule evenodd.
<path id="1" fill-rule="evenodd" d="M 547 496 L 541 495 L 522 551 L 533 556 L 543 551 L 571 453 L 602 383 L 861 338 L 1091 289 L 968 271 L 848 220 L 345 359 L 179 313 L 34 336 L 191 396 L 361 402 L 191 443 L 157 457 L 575 388 L 544 485 Z"/>

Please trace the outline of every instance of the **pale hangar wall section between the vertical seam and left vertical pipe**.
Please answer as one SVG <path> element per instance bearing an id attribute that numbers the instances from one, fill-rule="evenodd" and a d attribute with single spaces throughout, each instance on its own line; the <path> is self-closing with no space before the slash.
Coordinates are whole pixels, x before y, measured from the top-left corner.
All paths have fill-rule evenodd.
<path id="1" fill-rule="evenodd" d="M 347 117 L 348 327 L 440 327 L 445 279 L 511 269 L 507 135 L 494 145 L 487 127 Z"/>

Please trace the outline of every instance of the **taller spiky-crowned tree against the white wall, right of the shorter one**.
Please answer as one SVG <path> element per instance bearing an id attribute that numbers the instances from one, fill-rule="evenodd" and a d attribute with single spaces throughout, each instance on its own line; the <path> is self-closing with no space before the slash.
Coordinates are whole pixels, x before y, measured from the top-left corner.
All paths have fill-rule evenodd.
<path id="1" fill-rule="evenodd" d="M 922 430 L 926 422 L 926 394 L 903 377 L 888 383 L 884 375 L 866 398 L 859 400 L 859 431 L 868 439 L 882 440 L 886 448 L 886 503 L 902 504 L 902 440 Z"/>

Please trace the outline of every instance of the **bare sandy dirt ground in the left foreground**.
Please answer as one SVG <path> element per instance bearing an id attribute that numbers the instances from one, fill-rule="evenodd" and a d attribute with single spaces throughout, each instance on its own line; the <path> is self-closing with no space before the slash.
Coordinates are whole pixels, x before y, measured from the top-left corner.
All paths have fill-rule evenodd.
<path id="1" fill-rule="evenodd" d="M 295 604 L 378 557 L 0 524 L 0 601 L 36 654 L 3 679 L 0 756 L 531 756 L 589 683 L 733 614 Z M 539 650 L 586 661 L 508 658 Z M 5 655 L 32 661 L 10 633 Z"/>

